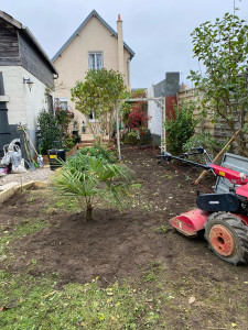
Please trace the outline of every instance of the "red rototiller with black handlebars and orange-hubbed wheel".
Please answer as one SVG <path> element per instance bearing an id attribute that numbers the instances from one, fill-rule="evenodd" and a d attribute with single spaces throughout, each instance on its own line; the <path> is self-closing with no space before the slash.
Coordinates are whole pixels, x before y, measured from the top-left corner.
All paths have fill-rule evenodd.
<path id="1" fill-rule="evenodd" d="M 217 256 L 234 265 L 247 263 L 248 177 L 244 173 L 213 164 L 204 147 L 193 150 L 193 153 L 184 153 L 181 156 L 165 152 L 158 157 L 166 162 L 177 160 L 213 172 L 228 180 L 227 193 L 197 194 L 198 209 L 181 213 L 170 222 L 186 237 L 196 237 L 200 231 L 205 230 L 205 239 Z M 200 164 L 187 158 L 188 155 L 196 154 L 205 154 L 209 163 Z"/>

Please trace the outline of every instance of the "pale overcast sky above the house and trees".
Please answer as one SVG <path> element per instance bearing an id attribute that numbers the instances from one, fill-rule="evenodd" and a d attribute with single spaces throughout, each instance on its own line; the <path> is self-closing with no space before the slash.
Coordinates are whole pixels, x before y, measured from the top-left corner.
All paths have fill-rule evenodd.
<path id="1" fill-rule="evenodd" d="M 248 21 L 248 0 L 236 0 Z M 52 58 L 93 9 L 116 31 L 120 13 L 125 42 L 134 51 L 132 88 L 150 87 L 166 72 L 186 81 L 192 58 L 191 33 L 205 21 L 233 12 L 234 0 L 0 0 L 0 9 L 26 25 Z"/>

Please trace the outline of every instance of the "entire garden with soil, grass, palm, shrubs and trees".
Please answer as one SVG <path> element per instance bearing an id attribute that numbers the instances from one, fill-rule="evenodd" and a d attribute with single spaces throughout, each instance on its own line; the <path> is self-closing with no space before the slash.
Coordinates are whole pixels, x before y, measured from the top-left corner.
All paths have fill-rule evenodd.
<path id="1" fill-rule="evenodd" d="M 234 34 L 242 25 L 228 14 L 224 21 L 233 24 Z M 224 23 L 217 20 L 215 26 L 224 31 Z M 208 28 L 213 25 L 205 23 L 193 34 L 195 43 L 198 37 L 195 54 L 206 61 L 207 68 L 212 62 L 202 52 L 209 48 L 204 47 Z M 242 34 L 248 26 L 244 29 Z M 225 33 L 223 37 L 226 42 Z M 241 42 L 231 37 L 228 45 L 234 41 L 240 51 Z M 224 50 L 222 46 L 222 58 Z M 247 105 L 244 98 L 240 103 L 229 103 L 239 100 L 239 87 L 242 96 L 247 92 L 244 76 L 236 75 L 236 62 L 234 56 L 233 62 L 220 63 L 217 75 L 223 79 L 223 70 L 233 70 L 234 80 L 228 86 L 220 81 L 215 89 L 218 78 L 211 76 L 212 69 L 206 70 L 207 79 L 192 72 L 192 79 L 204 91 L 202 111 L 195 118 L 198 105 L 175 105 L 174 114 L 164 123 L 171 153 L 190 151 L 195 140 L 213 156 L 223 148 L 225 139 L 216 141 L 206 132 L 195 135 L 209 100 L 213 120 L 226 118 L 236 132 L 236 114 L 244 114 Z M 242 72 L 245 66 L 237 69 Z M 143 95 L 127 92 L 118 73 L 89 70 L 85 81 L 77 81 L 72 97 L 84 114 L 94 112 L 101 119 L 90 127 L 96 144 L 60 161 L 61 168 L 46 189 L 21 187 L 2 205 L 1 329 L 247 329 L 247 266 L 222 261 L 203 235 L 188 239 L 170 224 L 173 217 L 196 208 L 197 191 L 213 191 L 215 177 L 208 173 L 196 185 L 197 167 L 158 162 L 160 151 L 149 140 L 145 105 L 122 103 L 127 96 Z M 116 123 L 117 111 L 121 120 Z M 56 130 L 47 128 L 57 125 L 57 135 L 48 136 L 50 141 L 66 138 L 60 134 L 61 127 L 66 132 L 72 120 L 67 114 L 53 122 L 42 113 L 40 133 L 44 129 L 48 136 Z M 125 125 L 121 161 L 115 145 L 119 124 Z M 107 134 L 112 139 L 108 147 L 101 145 Z M 235 139 L 245 155 L 245 124 Z M 42 143 L 45 148 L 44 139 Z"/>

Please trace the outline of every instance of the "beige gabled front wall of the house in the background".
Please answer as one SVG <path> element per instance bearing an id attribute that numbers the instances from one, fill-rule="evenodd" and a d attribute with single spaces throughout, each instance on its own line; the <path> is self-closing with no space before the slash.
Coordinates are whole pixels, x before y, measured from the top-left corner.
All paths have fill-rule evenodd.
<path id="1" fill-rule="evenodd" d="M 130 72 L 128 85 L 128 65 L 130 54 L 123 48 L 125 82 L 130 89 Z M 118 41 L 109 30 L 95 16 L 80 30 L 62 54 L 54 61 L 60 73 L 55 82 L 55 97 L 67 98 L 69 109 L 75 111 L 71 101 L 71 89 L 77 80 L 85 78 L 88 70 L 88 53 L 103 52 L 103 65 L 107 69 L 118 70 Z M 130 68 L 130 65 L 129 65 Z M 85 117 L 75 111 L 77 120 L 82 123 Z"/>

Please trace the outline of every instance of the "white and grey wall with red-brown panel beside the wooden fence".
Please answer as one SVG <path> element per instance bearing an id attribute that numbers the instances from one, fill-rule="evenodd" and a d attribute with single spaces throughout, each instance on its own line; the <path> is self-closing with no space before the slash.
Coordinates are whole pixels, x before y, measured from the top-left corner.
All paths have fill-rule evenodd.
<path id="1" fill-rule="evenodd" d="M 180 73 L 166 73 L 165 79 L 157 85 L 152 85 L 147 90 L 148 98 L 160 98 L 165 99 L 165 118 L 169 118 L 173 113 L 173 107 L 177 103 L 176 95 L 180 90 Z M 162 122 L 161 122 L 161 108 L 154 101 L 148 102 L 148 116 L 151 120 L 148 122 L 148 129 L 150 130 L 153 140 L 157 144 L 160 144 L 162 134 Z"/>

